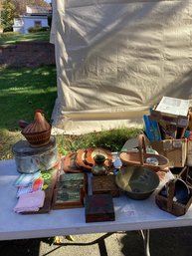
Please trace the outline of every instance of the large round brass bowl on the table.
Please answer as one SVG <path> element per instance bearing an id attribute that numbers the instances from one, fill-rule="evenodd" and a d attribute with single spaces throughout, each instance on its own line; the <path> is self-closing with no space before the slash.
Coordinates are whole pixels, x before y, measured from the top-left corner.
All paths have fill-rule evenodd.
<path id="1" fill-rule="evenodd" d="M 142 200 L 153 193 L 160 180 L 158 174 L 151 168 L 129 165 L 120 169 L 115 176 L 115 182 L 128 197 Z"/>

